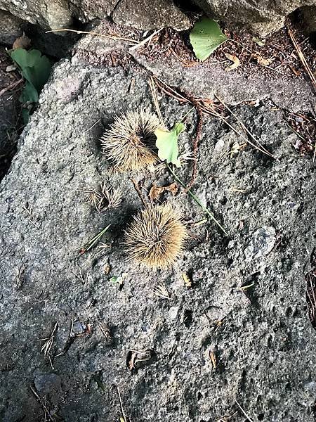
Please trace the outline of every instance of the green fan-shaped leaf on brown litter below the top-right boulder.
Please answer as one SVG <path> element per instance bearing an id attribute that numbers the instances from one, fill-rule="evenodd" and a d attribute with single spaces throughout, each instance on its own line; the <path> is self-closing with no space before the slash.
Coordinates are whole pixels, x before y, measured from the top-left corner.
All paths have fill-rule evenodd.
<path id="1" fill-rule="evenodd" d="M 200 19 L 190 32 L 190 42 L 199 60 L 206 60 L 220 44 L 227 41 L 228 37 L 220 30 L 215 20 L 206 18 Z"/>

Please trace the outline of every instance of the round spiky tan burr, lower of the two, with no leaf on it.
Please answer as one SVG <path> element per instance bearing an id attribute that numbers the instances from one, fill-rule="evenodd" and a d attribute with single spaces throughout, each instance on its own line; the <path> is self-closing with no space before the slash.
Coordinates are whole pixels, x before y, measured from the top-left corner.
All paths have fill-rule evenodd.
<path id="1" fill-rule="evenodd" d="M 149 205 L 134 216 L 125 232 L 129 260 L 166 269 L 183 251 L 187 230 L 180 211 L 170 204 Z"/>

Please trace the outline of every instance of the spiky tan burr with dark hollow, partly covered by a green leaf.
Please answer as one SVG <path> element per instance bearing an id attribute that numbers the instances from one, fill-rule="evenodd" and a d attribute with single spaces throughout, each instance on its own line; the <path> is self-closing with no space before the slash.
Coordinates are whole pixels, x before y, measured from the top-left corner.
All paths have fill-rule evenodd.
<path id="1" fill-rule="evenodd" d="M 160 122 L 149 111 L 116 116 L 101 138 L 103 153 L 121 171 L 147 170 L 159 161 L 154 131 Z"/>

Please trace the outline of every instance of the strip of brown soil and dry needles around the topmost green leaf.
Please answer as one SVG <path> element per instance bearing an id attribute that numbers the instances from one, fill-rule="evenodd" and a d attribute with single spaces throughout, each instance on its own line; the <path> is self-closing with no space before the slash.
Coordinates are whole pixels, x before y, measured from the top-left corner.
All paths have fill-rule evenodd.
<path id="1" fill-rule="evenodd" d="M 221 27 L 229 39 L 205 60 L 206 65 L 211 66 L 220 63 L 223 68 L 227 68 L 232 62 L 228 60 L 225 54 L 231 54 L 239 58 L 239 67 L 234 71 L 239 74 L 242 73 L 242 75 L 258 75 L 258 77 L 263 75 L 273 79 L 306 77 L 305 69 L 297 56 L 286 27 L 267 39 L 258 40 L 263 41 L 263 46 L 256 44 L 254 41 L 256 37 L 249 33 L 232 32 L 225 25 L 221 25 Z M 302 32 L 294 31 L 294 34 L 310 67 L 315 70 L 316 59 L 312 41 L 308 37 L 304 37 Z M 139 51 L 151 60 L 161 60 L 162 56 L 165 60 L 168 60 L 175 56 L 187 67 L 201 63 L 195 58 L 192 51 L 189 31 L 163 30 L 152 39 L 149 45 Z"/>

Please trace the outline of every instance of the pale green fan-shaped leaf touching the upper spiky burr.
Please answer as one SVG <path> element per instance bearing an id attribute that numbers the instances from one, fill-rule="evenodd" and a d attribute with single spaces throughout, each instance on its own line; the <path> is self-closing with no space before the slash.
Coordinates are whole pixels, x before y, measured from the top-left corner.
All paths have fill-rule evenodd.
<path id="1" fill-rule="evenodd" d="M 158 148 L 158 157 L 160 160 L 172 162 L 177 167 L 180 167 L 180 160 L 178 159 L 178 136 L 183 132 L 185 126 L 181 122 L 173 125 L 171 131 L 156 129 L 154 134 L 157 137 L 156 146 Z"/>

